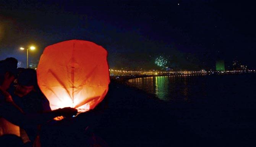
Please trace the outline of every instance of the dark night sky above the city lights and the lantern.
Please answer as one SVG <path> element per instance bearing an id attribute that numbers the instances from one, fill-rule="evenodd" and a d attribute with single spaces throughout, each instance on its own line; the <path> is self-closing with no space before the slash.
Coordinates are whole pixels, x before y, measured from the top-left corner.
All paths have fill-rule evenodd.
<path id="1" fill-rule="evenodd" d="M 254 3 L 223 0 L 171 1 L 5 1 L 0 0 L 0 59 L 26 66 L 21 46 L 36 46 L 30 60 L 48 45 L 88 40 L 109 53 L 110 68 L 154 69 L 160 55 L 175 69 L 214 69 L 236 58 L 255 69 Z"/>

